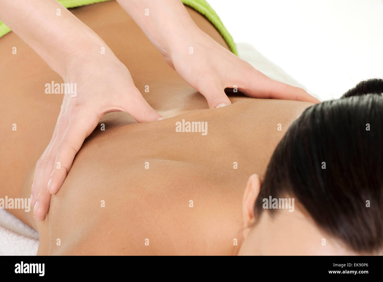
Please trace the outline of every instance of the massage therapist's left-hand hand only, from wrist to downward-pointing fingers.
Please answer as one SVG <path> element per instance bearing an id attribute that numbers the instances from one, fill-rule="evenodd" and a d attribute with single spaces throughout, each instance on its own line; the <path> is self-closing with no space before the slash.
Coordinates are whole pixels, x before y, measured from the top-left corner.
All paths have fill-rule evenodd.
<path id="1" fill-rule="evenodd" d="M 60 189 L 84 139 L 106 113 L 125 111 L 138 122 L 161 118 L 144 100 L 128 69 L 114 55 L 110 59 L 87 58 L 86 61 L 83 66 L 76 66 L 76 71 L 65 81 L 77 85 L 77 95 L 64 95 L 52 139 L 36 164 L 32 195 L 34 199 L 37 196 L 34 210 L 37 220 L 45 218 L 51 194 Z"/>

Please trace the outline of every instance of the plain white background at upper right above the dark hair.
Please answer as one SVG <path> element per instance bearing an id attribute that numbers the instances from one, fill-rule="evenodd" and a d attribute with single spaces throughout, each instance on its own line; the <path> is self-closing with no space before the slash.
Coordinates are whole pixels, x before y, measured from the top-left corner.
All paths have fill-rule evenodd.
<path id="1" fill-rule="evenodd" d="M 383 0 L 208 0 L 250 43 L 320 100 L 383 78 Z"/>

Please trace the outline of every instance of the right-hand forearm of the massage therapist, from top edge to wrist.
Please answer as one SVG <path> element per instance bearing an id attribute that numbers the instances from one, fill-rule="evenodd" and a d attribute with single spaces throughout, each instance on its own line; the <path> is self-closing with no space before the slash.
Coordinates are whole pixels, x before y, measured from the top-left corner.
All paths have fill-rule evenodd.
<path id="1" fill-rule="evenodd" d="M 117 0 L 154 46 L 166 57 L 174 46 L 188 44 L 188 34 L 200 31 L 180 0 Z"/>

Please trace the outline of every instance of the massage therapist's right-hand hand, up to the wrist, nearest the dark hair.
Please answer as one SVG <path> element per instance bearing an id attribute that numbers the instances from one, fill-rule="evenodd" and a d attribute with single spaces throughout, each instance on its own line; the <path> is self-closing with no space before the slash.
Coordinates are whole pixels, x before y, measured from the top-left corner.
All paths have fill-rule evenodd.
<path id="1" fill-rule="evenodd" d="M 210 108 L 231 104 L 225 88 L 237 88 L 254 98 L 274 98 L 319 103 L 299 87 L 270 79 L 246 61 L 214 41 L 198 28 L 165 54 L 165 60 L 194 89 L 205 96 Z M 190 46 L 190 47 L 189 47 Z M 193 48 L 193 53 L 190 50 Z M 232 91 L 232 90 L 231 90 Z"/>

